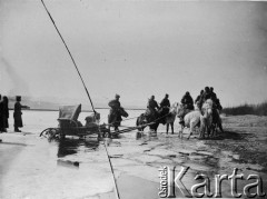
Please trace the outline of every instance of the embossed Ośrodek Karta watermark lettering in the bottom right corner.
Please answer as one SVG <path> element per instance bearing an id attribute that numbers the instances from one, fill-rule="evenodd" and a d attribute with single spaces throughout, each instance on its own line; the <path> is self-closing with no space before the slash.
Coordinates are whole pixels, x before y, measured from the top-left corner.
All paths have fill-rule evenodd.
<path id="1" fill-rule="evenodd" d="M 258 175 L 249 175 L 246 185 L 243 189 L 243 193 L 237 191 L 238 180 L 244 180 L 244 175 L 237 175 L 238 169 L 234 169 L 233 175 L 215 175 L 215 191 L 210 191 L 210 180 L 206 175 L 197 175 L 195 180 L 202 180 L 200 183 L 192 185 L 190 189 L 182 183 L 182 178 L 189 170 L 189 167 L 181 167 L 179 173 L 175 176 L 176 167 L 162 167 L 159 169 L 160 178 L 160 188 L 159 197 L 160 198 L 175 198 L 177 196 L 176 187 L 184 197 L 188 198 L 202 198 L 202 197 L 214 197 L 221 198 L 221 181 L 230 180 L 230 190 L 234 198 L 240 198 L 243 195 L 248 198 L 255 197 L 265 197 L 266 193 L 263 191 L 263 180 Z M 254 180 L 251 182 L 251 180 Z M 202 192 L 198 192 L 199 188 L 204 188 Z M 251 189 L 256 188 L 256 192 L 253 192 Z M 255 189 L 254 189 L 255 190 Z"/>

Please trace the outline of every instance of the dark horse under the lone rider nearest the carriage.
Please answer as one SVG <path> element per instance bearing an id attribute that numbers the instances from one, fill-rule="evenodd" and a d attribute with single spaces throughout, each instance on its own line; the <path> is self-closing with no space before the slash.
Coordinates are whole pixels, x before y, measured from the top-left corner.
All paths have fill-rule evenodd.
<path id="1" fill-rule="evenodd" d="M 118 109 L 111 109 L 108 116 L 108 123 L 109 123 L 109 129 L 110 127 L 115 128 L 115 131 L 119 130 L 120 122 L 122 120 L 121 117 L 127 118 L 129 115 L 126 112 L 126 110 L 120 107 Z"/>

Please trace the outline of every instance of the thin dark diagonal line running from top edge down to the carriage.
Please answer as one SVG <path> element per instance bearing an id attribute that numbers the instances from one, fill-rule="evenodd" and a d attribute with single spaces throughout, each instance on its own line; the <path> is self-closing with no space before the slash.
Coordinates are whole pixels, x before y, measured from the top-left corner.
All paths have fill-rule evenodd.
<path id="1" fill-rule="evenodd" d="M 82 79 L 82 77 L 81 77 L 81 74 L 80 74 L 80 71 L 79 71 L 79 69 L 78 69 L 78 67 L 77 67 L 77 64 L 76 64 L 76 61 L 75 61 L 73 57 L 72 57 L 72 54 L 71 54 L 71 52 L 70 52 L 70 50 L 69 50 L 67 43 L 65 42 L 63 37 L 61 36 L 61 33 L 60 33 L 58 27 L 56 26 L 56 23 L 55 23 L 55 21 L 53 21 L 53 19 L 52 19 L 52 16 L 51 16 L 50 12 L 48 11 L 48 9 L 47 9 L 47 7 L 46 7 L 43 0 L 41 0 L 41 2 L 42 2 L 42 6 L 44 7 L 44 9 L 46 9 L 46 11 L 47 11 L 47 13 L 48 13 L 48 16 L 49 16 L 49 18 L 51 19 L 51 21 L 52 21 L 52 23 L 53 23 L 53 26 L 55 26 L 55 28 L 56 28 L 56 30 L 57 30 L 57 32 L 58 32 L 60 39 L 62 40 L 62 42 L 63 42 L 63 44 L 65 44 L 67 51 L 69 52 L 69 56 L 70 56 L 70 58 L 71 58 L 71 60 L 72 60 L 72 62 L 73 62 L 73 64 L 75 64 L 75 68 L 76 68 L 77 72 L 78 72 L 78 74 L 79 74 L 79 77 L 80 77 L 80 80 L 81 80 L 81 82 L 82 82 L 82 84 L 83 84 L 83 88 L 86 89 L 87 96 L 88 96 L 89 101 L 90 101 L 91 107 L 92 107 L 92 110 L 93 110 L 95 113 L 97 113 L 96 110 L 95 110 L 95 108 L 93 108 L 92 100 L 91 100 L 91 97 L 90 97 L 90 94 L 89 94 L 89 91 L 87 90 L 86 83 L 85 83 L 85 81 L 83 81 L 83 79 Z"/>

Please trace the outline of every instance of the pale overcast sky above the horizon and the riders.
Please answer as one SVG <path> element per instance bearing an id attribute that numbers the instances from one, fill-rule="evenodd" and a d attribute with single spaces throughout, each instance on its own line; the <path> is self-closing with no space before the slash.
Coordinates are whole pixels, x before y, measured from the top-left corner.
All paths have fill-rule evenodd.
<path id="1" fill-rule="evenodd" d="M 267 99 L 267 2 L 44 0 L 93 102 Z M 0 93 L 87 99 L 39 0 L 0 0 Z"/>

